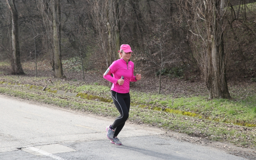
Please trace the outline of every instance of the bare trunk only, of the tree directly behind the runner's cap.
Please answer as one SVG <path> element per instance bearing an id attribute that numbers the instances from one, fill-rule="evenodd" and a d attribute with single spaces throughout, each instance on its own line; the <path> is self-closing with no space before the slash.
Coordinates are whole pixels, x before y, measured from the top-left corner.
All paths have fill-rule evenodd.
<path id="1" fill-rule="evenodd" d="M 106 20 L 108 30 L 107 65 L 118 58 L 120 47 L 119 0 L 106 0 Z"/>

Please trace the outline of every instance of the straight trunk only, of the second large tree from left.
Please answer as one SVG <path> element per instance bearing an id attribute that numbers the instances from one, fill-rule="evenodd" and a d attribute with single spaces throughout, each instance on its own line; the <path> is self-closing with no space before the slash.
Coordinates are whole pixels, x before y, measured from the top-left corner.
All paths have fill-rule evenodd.
<path id="1" fill-rule="evenodd" d="M 52 0 L 53 13 L 53 69 L 54 77 L 65 78 L 62 69 L 61 56 L 61 23 L 60 0 Z"/>

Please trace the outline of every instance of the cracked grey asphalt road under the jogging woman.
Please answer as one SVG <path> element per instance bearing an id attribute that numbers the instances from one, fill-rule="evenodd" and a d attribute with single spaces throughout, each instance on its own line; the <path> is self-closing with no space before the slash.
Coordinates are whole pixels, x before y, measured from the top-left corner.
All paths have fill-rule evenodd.
<path id="1" fill-rule="evenodd" d="M 0 159 L 244 159 L 135 124 L 126 124 L 118 135 L 122 145 L 114 145 L 106 138 L 106 126 L 113 120 L 0 95 Z"/>

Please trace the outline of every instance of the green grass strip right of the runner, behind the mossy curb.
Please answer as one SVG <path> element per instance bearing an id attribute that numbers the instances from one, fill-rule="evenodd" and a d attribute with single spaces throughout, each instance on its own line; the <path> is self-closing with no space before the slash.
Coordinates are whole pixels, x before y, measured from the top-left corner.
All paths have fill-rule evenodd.
<path id="1" fill-rule="evenodd" d="M 162 108 L 164 111 L 192 117 L 202 117 L 226 123 L 256 126 L 256 94 L 244 100 L 214 99 L 207 97 L 172 98 L 171 95 L 150 95 L 131 91 L 133 103 Z M 160 110 L 160 109 L 158 109 Z"/>

